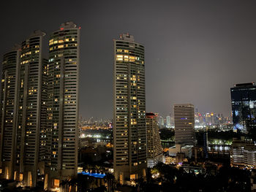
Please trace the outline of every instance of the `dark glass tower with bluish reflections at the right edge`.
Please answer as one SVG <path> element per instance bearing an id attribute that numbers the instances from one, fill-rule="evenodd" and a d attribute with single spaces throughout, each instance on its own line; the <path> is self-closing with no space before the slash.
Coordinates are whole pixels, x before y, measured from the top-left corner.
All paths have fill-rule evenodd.
<path id="1" fill-rule="evenodd" d="M 241 83 L 230 88 L 234 130 L 248 133 L 256 128 L 256 85 L 255 82 Z"/>

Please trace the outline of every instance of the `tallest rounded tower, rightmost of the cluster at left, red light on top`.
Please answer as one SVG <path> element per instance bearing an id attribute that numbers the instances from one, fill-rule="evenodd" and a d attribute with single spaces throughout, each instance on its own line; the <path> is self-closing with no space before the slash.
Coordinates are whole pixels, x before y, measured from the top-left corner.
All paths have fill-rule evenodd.
<path id="1" fill-rule="evenodd" d="M 80 28 L 62 23 L 50 34 L 45 188 L 78 172 Z"/>

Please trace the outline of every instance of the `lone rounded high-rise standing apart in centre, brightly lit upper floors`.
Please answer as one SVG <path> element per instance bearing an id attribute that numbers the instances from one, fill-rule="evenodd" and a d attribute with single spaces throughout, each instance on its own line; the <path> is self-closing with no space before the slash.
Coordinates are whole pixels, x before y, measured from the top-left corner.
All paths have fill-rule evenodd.
<path id="1" fill-rule="evenodd" d="M 118 183 L 146 175 L 144 46 L 132 35 L 114 39 L 114 171 Z"/>

